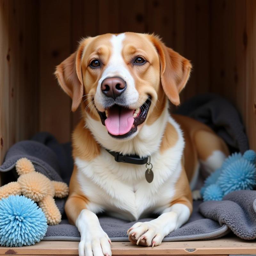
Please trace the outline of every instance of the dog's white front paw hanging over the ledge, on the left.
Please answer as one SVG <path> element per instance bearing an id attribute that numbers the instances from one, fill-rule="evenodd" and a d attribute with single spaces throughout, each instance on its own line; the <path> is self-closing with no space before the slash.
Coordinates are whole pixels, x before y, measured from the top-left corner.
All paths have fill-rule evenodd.
<path id="1" fill-rule="evenodd" d="M 101 229 L 85 231 L 78 246 L 79 256 L 111 256 L 111 241 Z"/>

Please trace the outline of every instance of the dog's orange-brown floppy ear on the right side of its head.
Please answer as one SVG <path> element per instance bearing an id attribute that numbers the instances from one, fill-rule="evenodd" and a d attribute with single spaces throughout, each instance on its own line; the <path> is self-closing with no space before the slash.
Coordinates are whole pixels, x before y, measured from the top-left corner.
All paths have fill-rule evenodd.
<path id="1" fill-rule="evenodd" d="M 159 54 L 160 76 L 164 92 L 169 100 L 178 106 L 180 104 L 179 93 L 188 81 L 191 63 L 178 52 L 166 47 L 157 36 L 151 36 L 151 40 Z"/>

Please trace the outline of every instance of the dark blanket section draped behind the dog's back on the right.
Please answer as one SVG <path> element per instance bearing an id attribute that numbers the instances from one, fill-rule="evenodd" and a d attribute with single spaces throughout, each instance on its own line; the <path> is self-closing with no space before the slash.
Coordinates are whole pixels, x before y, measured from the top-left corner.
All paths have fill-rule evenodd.
<path id="1" fill-rule="evenodd" d="M 190 116 L 207 124 L 227 143 L 230 152 L 249 149 L 244 125 L 236 108 L 224 98 L 206 93 L 192 97 L 176 110 L 176 114 Z"/>

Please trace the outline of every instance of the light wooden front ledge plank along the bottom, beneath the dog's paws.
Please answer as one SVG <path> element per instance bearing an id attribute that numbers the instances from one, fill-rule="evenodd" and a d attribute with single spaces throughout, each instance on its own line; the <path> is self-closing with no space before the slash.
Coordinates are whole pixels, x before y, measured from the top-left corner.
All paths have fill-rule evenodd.
<path id="1" fill-rule="evenodd" d="M 13 250 L 16 255 L 77 255 L 79 242 L 41 241 L 24 247 L 0 247 L 0 254 Z M 130 242 L 113 242 L 112 255 L 227 255 L 252 254 L 256 252 L 256 242 L 238 237 L 219 238 L 207 241 L 163 242 L 154 247 L 143 247 Z M 8 253 L 7 253 L 8 254 Z"/>

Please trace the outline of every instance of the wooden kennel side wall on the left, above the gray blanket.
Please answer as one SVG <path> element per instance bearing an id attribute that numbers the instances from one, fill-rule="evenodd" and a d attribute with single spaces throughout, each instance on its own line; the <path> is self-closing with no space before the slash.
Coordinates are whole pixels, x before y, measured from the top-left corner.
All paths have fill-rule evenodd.
<path id="1" fill-rule="evenodd" d="M 39 130 L 38 4 L 0 1 L 0 162 Z"/>

